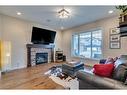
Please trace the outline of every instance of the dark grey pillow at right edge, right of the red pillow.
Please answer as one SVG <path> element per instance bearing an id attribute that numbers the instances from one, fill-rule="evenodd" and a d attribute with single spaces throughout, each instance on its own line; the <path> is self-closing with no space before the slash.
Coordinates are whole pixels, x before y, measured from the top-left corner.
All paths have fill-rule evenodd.
<path id="1" fill-rule="evenodd" d="M 125 82 L 127 76 L 126 64 L 120 64 L 113 72 L 113 78 Z"/>

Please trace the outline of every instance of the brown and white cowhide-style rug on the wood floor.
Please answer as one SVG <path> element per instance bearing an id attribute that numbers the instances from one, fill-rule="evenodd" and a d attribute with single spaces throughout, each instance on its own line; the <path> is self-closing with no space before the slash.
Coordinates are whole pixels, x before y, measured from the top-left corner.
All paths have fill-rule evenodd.
<path id="1" fill-rule="evenodd" d="M 53 66 L 45 75 L 49 75 L 55 83 L 63 86 L 65 89 L 79 89 L 79 82 L 77 78 L 72 78 L 64 73 L 62 73 L 62 66 Z"/>

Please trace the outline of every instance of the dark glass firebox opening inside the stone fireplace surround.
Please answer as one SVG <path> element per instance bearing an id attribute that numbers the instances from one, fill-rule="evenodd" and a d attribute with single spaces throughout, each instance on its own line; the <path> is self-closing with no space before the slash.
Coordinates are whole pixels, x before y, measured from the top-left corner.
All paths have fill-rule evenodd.
<path id="1" fill-rule="evenodd" d="M 36 65 L 48 63 L 48 53 L 36 53 Z"/>

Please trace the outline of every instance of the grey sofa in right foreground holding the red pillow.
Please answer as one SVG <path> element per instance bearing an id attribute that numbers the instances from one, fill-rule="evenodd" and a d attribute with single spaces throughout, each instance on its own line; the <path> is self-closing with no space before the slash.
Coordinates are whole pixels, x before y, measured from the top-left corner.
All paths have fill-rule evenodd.
<path id="1" fill-rule="evenodd" d="M 122 66 L 119 65 L 119 67 L 124 67 L 124 69 L 126 70 L 125 77 L 127 78 L 127 64 L 126 64 L 127 55 L 121 55 L 118 61 L 119 64 L 122 63 L 121 64 Z M 118 73 L 118 75 L 119 74 L 123 74 L 123 73 Z M 117 77 L 117 75 L 115 76 L 117 77 L 117 79 L 114 79 L 114 78 L 97 76 L 93 73 L 86 72 L 85 70 L 80 70 L 77 72 L 76 76 L 79 81 L 79 89 L 127 89 L 127 79 L 125 85 L 124 82 L 118 81 L 119 77 Z"/>

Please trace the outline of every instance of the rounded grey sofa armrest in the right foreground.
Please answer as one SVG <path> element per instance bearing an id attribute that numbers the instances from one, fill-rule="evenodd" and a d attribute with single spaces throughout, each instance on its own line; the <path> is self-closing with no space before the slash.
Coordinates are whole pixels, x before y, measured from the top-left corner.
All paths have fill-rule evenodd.
<path id="1" fill-rule="evenodd" d="M 102 89 L 127 89 L 127 86 L 120 81 L 110 79 L 110 78 L 100 77 L 100 76 L 85 72 L 83 70 L 80 70 L 77 72 L 77 78 L 79 80 L 82 80 L 82 82 L 84 83 L 86 82 L 100 89 L 101 88 Z"/>

